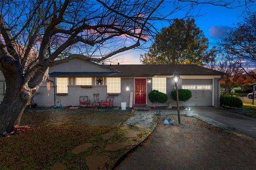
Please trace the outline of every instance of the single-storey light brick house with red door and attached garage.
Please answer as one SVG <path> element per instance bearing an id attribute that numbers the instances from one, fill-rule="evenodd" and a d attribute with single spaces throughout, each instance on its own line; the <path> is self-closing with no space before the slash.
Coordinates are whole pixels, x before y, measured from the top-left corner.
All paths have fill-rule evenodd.
<path id="1" fill-rule="evenodd" d="M 148 99 L 151 90 L 159 90 L 170 97 L 174 90 L 174 72 L 180 75 L 178 87 L 192 92 L 192 98 L 183 106 L 220 105 L 222 72 L 196 65 L 100 65 L 81 58 L 52 66 L 50 91 L 44 83 L 34 101 L 39 106 L 78 106 L 79 96 L 89 96 L 92 104 L 93 94 L 100 94 L 100 100 L 114 96 L 114 106 L 121 106 L 121 102 L 129 106 L 132 95 L 132 105 L 152 106 Z M 172 103 L 175 105 L 174 101 Z"/>

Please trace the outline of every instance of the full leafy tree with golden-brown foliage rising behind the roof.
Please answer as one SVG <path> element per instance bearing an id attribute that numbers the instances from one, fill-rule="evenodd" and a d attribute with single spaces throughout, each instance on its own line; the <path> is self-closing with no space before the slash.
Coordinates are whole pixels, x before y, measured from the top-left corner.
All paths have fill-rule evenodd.
<path id="1" fill-rule="evenodd" d="M 209 42 L 196 27 L 194 19 L 175 19 L 162 29 L 149 52 L 141 55 L 143 64 L 197 64 L 214 60 L 215 48 L 208 50 Z"/>

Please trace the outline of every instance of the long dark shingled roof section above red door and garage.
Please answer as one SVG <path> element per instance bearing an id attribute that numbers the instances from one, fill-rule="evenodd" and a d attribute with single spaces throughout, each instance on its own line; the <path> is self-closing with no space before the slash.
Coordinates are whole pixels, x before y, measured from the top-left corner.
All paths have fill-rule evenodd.
<path id="1" fill-rule="evenodd" d="M 118 71 L 113 77 L 153 77 L 155 75 L 172 75 L 174 72 L 180 75 L 225 75 L 226 73 L 208 69 L 203 66 L 187 64 L 125 64 L 125 65 L 104 65 L 109 69 Z"/>

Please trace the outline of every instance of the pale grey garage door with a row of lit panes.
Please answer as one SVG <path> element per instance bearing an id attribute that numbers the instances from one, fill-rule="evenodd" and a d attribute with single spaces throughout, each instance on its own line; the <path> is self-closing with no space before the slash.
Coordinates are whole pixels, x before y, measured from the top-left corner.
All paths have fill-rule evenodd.
<path id="1" fill-rule="evenodd" d="M 182 89 L 192 94 L 183 106 L 212 106 L 212 79 L 182 79 Z"/>

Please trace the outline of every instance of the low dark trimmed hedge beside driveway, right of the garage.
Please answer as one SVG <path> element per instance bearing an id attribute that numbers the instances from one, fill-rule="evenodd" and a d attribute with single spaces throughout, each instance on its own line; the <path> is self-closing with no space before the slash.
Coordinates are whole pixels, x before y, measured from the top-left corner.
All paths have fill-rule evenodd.
<path id="1" fill-rule="evenodd" d="M 243 101 L 238 97 L 221 95 L 220 105 L 240 108 L 243 106 Z"/>

